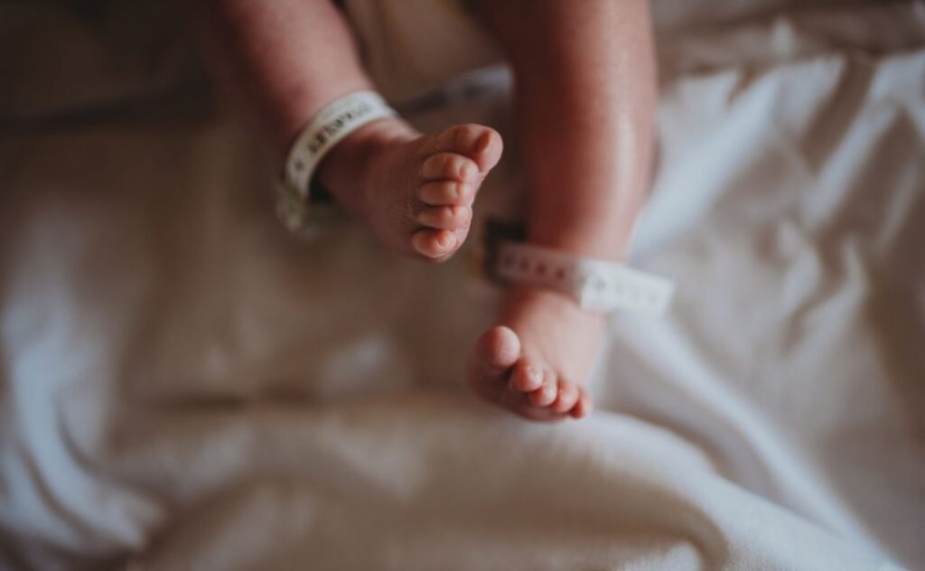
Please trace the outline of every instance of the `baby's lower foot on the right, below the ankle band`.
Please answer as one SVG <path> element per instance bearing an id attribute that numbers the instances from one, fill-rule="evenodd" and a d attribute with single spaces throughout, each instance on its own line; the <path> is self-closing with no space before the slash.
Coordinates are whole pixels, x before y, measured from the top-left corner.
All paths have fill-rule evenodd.
<path id="1" fill-rule="evenodd" d="M 475 392 L 534 420 L 590 413 L 581 383 L 594 365 L 605 318 L 561 293 L 515 287 L 501 323 L 482 335 L 469 358 Z"/>

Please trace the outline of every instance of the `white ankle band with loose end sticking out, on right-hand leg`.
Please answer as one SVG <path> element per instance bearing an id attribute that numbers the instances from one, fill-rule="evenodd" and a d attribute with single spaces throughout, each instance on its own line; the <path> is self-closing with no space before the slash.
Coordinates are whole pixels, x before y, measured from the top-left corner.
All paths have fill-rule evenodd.
<path id="1" fill-rule="evenodd" d="M 582 309 L 600 313 L 661 315 L 674 293 L 670 279 L 520 242 L 499 242 L 494 271 L 500 279 L 565 293 Z"/>

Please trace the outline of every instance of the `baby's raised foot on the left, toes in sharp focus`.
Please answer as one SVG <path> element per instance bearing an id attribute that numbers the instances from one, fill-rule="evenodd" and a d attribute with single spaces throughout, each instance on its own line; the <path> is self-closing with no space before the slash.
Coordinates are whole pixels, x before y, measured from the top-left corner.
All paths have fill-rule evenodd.
<path id="1" fill-rule="evenodd" d="M 318 176 L 389 249 L 443 261 L 465 240 L 475 193 L 500 156 L 500 135 L 481 125 L 427 136 L 382 119 L 332 149 Z"/>

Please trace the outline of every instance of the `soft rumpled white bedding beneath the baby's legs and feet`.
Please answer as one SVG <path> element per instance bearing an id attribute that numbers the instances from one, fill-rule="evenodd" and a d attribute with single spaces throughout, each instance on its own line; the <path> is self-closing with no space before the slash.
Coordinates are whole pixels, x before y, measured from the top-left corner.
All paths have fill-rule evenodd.
<path id="1" fill-rule="evenodd" d="M 925 568 L 925 5 L 746 4 L 657 5 L 678 298 L 558 426 L 465 390 L 465 256 L 290 241 L 156 3 L 0 6 L 0 568 Z"/>

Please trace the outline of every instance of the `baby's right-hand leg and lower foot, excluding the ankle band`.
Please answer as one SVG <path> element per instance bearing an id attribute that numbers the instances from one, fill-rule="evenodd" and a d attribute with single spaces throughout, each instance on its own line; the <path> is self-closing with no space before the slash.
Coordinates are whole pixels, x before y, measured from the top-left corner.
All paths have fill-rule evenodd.
<path id="1" fill-rule="evenodd" d="M 475 0 L 512 62 L 530 242 L 618 260 L 648 185 L 656 96 L 647 0 Z M 530 418 L 585 416 L 603 317 L 512 288 L 478 341 L 479 394 Z"/>

